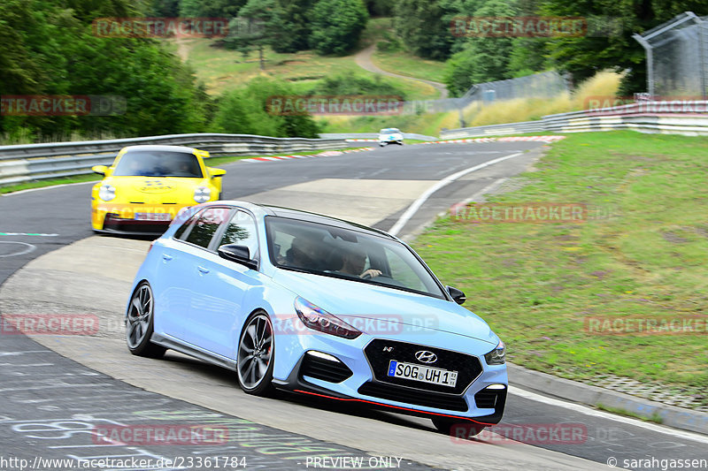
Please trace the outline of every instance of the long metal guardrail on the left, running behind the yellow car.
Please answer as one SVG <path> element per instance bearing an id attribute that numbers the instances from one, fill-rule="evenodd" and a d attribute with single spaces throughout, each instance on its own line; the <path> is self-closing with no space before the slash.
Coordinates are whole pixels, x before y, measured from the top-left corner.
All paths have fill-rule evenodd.
<path id="1" fill-rule="evenodd" d="M 208 150 L 212 156 L 256 156 L 349 146 L 344 139 L 275 138 L 218 133 L 0 146 L 0 185 L 84 175 L 90 173 L 94 165 L 112 163 L 121 148 L 140 144 L 189 146 Z"/>

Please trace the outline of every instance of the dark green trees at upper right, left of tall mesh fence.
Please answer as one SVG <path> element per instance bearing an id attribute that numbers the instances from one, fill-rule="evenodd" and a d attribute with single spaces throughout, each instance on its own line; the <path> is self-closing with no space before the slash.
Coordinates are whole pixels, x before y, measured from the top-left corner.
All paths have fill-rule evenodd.
<path id="1" fill-rule="evenodd" d="M 632 34 L 683 11 L 708 14 L 702 0 L 391 0 L 396 33 L 421 57 L 448 60 L 446 84 L 460 95 L 474 83 L 555 69 L 575 83 L 598 71 L 625 71 L 623 93 L 645 91 L 645 53 Z M 453 19 L 581 17 L 588 34 L 578 37 L 466 37 L 453 34 Z"/>

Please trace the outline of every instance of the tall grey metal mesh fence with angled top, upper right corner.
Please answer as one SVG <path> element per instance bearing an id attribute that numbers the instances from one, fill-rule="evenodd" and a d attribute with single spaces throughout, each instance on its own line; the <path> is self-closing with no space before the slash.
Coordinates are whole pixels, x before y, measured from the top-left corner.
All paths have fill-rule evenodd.
<path id="1" fill-rule="evenodd" d="M 651 96 L 708 97 L 708 17 L 687 11 L 634 37 L 647 52 Z"/>

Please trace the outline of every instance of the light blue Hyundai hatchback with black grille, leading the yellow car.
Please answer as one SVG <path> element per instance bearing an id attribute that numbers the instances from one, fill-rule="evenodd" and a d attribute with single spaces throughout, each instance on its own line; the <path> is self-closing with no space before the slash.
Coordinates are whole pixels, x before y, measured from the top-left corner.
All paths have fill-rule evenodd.
<path id="1" fill-rule="evenodd" d="M 273 388 L 427 416 L 466 435 L 504 414 L 504 343 L 404 242 L 243 201 L 182 210 L 150 246 L 126 313 L 131 353 L 167 349 Z"/>

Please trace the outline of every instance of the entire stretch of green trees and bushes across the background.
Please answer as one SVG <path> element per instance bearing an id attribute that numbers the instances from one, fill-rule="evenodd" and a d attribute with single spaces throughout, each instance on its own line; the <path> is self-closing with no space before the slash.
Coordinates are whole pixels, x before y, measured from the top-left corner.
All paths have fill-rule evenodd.
<path id="1" fill-rule="evenodd" d="M 189 65 L 162 42 L 99 37 L 91 31 L 97 18 L 232 19 L 235 27 L 220 42 L 223 47 L 344 55 L 357 48 L 369 18 L 386 16 L 392 18 L 394 31 L 381 47 L 444 62 L 452 95 L 463 94 L 474 83 L 551 69 L 569 72 L 575 83 L 604 69 L 625 71 L 624 95 L 645 90 L 644 52 L 632 34 L 681 11 L 705 15 L 708 4 L 704 0 L 3 0 L 0 95 L 118 95 L 126 99 L 127 111 L 116 116 L 4 115 L 0 134 L 11 139 L 16 133 L 73 132 L 116 137 L 215 131 L 317 134 L 312 117 L 270 116 L 266 103 L 256 99 L 295 95 L 288 82 L 258 78 L 210 97 Z M 593 19 L 601 34 L 481 37 L 454 34 L 451 28 L 456 19 L 534 15 Z M 258 27 L 238 27 L 243 21 Z M 612 27 L 604 27 L 604 21 Z M 333 80 L 312 91 L 351 94 L 366 89 L 403 95 L 375 80 Z"/>

